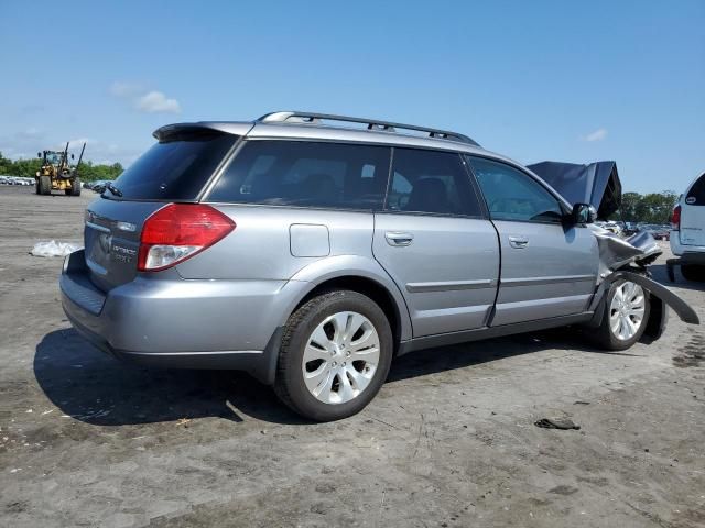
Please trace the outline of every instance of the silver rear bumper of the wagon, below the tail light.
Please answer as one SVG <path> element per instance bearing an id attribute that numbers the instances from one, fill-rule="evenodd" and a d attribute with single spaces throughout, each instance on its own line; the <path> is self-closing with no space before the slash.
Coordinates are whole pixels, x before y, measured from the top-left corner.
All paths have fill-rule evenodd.
<path id="1" fill-rule="evenodd" d="M 66 257 L 62 305 L 98 349 L 139 364 L 232 369 L 273 382 L 279 329 L 306 283 L 140 276 L 104 293 L 83 251 Z"/>

